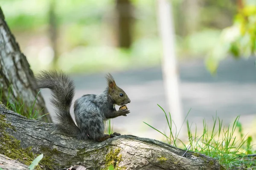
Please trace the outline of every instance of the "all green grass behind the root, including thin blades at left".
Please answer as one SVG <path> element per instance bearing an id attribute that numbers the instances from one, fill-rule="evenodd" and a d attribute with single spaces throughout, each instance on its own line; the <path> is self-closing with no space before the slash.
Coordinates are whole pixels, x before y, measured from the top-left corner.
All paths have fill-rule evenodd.
<path id="1" fill-rule="evenodd" d="M 159 106 L 160 107 L 160 106 Z M 161 107 L 160 107 L 161 108 Z M 163 108 L 161 108 L 163 110 Z M 175 136 L 172 133 L 172 119 L 169 113 L 169 119 L 166 112 L 163 110 L 166 116 L 166 121 L 169 126 L 170 133 L 166 135 L 160 130 L 148 125 L 159 133 L 163 134 L 166 137 L 169 144 L 173 144 L 175 147 L 178 146 L 178 142 L 183 145 L 184 149 L 186 148 L 186 142 L 178 139 L 179 133 L 175 133 Z M 186 118 L 185 118 L 186 119 Z M 192 131 L 192 124 L 189 124 L 187 120 L 187 133 L 188 133 L 188 149 L 197 152 L 203 153 L 207 156 L 211 156 L 219 161 L 220 164 L 223 164 L 227 169 L 233 169 L 234 166 L 242 165 L 243 167 L 255 166 L 253 160 L 244 159 L 247 154 L 253 153 L 252 151 L 252 137 L 244 136 L 242 133 L 242 126 L 239 123 L 239 116 L 236 117 L 233 124 L 228 127 L 223 126 L 222 120 L 213 117 L 213 126 L 208 128 L 206 120 L 203 120 L 203 131 L 199 135 L 197 126 L 195 125 L 195 131 Z M 174 122 L 172 122 L 174 124 Z M 175 124 L 174 124 L 175 125 Z M 239 137 L 237 137 L 237 133 Z"/>

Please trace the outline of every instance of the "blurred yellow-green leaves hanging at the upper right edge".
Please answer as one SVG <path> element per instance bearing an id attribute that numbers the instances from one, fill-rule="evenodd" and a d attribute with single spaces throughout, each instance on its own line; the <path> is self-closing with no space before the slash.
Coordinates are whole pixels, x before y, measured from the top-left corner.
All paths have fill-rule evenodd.
<path id="1" fill-rule="evenodd" d="M 209 53 L 206 65 L 211 73 L 216 73 L 219 62 L 229 54 L 234 58 L 256 55 L 256 3 L 250 0 L 244 2 L 233 26 L 222 31 L 215 48 Z"/>

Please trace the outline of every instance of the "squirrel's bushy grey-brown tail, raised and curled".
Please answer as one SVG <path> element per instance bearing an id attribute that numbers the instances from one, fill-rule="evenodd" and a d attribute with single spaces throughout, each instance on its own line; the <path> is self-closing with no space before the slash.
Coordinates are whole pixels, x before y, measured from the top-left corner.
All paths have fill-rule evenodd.
<path id="1" fill-rule="evenodd" d="M 50 102 L 55 108 L 59 127 L 68 135 L 79 136 L 81 131 L 70 115 L 70 107 L 75 95 L 73 81 L 61 71 L 41 71 L 36 76 L 36 82 L 37 88 L 51 90 Z"/>

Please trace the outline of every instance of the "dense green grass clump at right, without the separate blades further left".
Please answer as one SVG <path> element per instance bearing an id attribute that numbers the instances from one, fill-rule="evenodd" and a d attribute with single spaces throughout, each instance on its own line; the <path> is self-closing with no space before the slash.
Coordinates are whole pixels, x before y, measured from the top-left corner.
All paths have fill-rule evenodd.
<path id="1" fill-rule="evenodd" d="M 195 129 L 195 135 L 193 135 L 191 125 L 187 121 L 191 150 L 218 159 L 225 167 L 232 169 L 232 164 L 236 163 L 239 156 L 243 156 L 244 152 L 249 149 L 243 149 L 243 147 L 247 147 L 247 139 L 243 136 L 239 139 L 235 135 L 238 121 L 239 116 L 236 117 L 231 127 L 229 125 L 225 128 L 222 121 L 215 117 L 213 118 L 213 127 L 209 129 L 206 121 L 203 120 L 204 131 L 201 136 L 197 135 L 197 128 Z"/>

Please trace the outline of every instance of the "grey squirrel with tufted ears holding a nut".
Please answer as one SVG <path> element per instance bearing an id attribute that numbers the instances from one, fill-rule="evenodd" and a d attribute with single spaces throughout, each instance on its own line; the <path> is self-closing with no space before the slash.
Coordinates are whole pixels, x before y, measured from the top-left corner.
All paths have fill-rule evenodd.
<path id="1" fill-rule="evenodd" d="M 51 90 L 51 104 L 55 108 L 58 128 L 69 136 L 78 139 L 104 141 L 119 136 L 120 133 L 104 134 L 104 121 L 118 116 L 127 116 L 127 109 L 116 111 L 115 105 L 131 102 L 125 91 L 116 85 L 111 74 L 106 75 L 107 88 L 101 94 L 85 94 L 74 102 L 74 120 L 70 107 L 75 94 L 73 80 L 62 71 L 41 71 L 36 77 L 36 88 Z"/>

